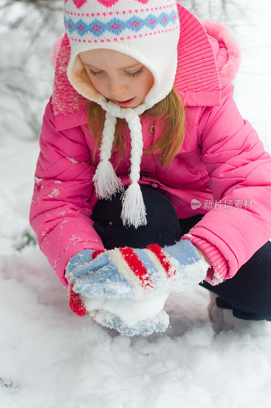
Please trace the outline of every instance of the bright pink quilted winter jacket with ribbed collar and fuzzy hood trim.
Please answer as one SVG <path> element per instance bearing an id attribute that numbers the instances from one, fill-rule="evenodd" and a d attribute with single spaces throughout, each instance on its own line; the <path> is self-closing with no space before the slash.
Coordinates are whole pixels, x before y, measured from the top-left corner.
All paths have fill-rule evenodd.
<path id="1" fill-rule="evenodd" d="M 271 237 L 271 156 L 233 100 L 239 49 L 231 33 L 219 23 L 201 23 L 179 4 L 178 13 L 174 86 L 186 107 L 186 137 L 169 169 L 161 167 L 159 151 L 142 157 L 139 183 L 161 188 L 179 218 L 205 214 L 182 239 L 207 255 L 212 268 L 206 281 L 217 285 L 234 276 Z M 66 287 L 69 259 L 83 249 L 104 248 L 91 219 L 98 201 L 92 179 L 99 152 L 93 165 L 87 101 L 68 81 L 69 55 L 65 34 L 51 56 L 53 94 L 43 117 L 30 210 L 40 248 Z M 159 137 L 161 121 L 142 115 L 144 149 Z M 128 128 L 124 143 L 130 150 Z M 116 147 L 113 166 L 117 153 Z M 129 166 L 124 152 L 116 170 L 124 185 L 130 183 Z"/>

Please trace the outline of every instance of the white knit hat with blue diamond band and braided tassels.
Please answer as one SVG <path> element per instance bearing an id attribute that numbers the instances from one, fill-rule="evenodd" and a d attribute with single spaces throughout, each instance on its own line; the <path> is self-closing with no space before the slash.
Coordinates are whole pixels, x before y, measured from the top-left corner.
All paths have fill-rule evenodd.
<path id="1" fill-rule="evenodd" d="M 139 115 L 164 99 L 173 87 L 179 39 L 176 1 L 65 0 L 64 23 L 71 45 L 68 79 L 77 92 L 106 111 L 100 163 L 93 177 L 96 192 L 108 199 L 124 190 L 109 162 L 116 118 L 124 118 L 131 132 L 131 184 L 122 195 L 121 217 L 124 225 L 145 225 L 146 211 L 138 184 L 143 149 Z M 97 91 L 78 55 L 95 48 L 127 54 L 152 72 L 154 85 L 141 105 L 123 108 Z"/>

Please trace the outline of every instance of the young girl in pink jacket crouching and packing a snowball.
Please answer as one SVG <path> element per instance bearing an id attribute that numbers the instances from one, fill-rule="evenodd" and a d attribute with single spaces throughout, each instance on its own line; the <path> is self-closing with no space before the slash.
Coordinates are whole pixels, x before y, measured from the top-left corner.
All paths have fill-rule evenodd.
<path id="1" fill-rule="evenodd" d="M 196 284 L 271 318 L 271 157 L 233 100 L 229 31 L 174 0 L 65 0 L 30 223 L 70 308 L 164 331 Z"/>

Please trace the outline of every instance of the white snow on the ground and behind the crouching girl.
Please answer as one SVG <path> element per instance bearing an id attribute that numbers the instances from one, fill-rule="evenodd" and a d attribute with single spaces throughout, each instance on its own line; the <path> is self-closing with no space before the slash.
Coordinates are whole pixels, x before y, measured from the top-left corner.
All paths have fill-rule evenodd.
<path id="1" fill-rule="evenodd" d="M 234 24 L 243 50 L 235 101 L 271 153 L 269 0 L 246 5 L 246 18 Z M 0 35 L 6 62 L 13 46 L 23 53 L 23 37 Z M 43 58 L 43 78 L 52 78 Z M 72 314 L 67 290 L 28 224 L 39 144 L 20 137 L 16 104 L 0 140 L 1 408 L 269 408 L 271 323 L 225 311 L 232 328 L 216 333 L 201 287 L 171 295 L 170 327 L 147 338 L 121 336 Z"/>

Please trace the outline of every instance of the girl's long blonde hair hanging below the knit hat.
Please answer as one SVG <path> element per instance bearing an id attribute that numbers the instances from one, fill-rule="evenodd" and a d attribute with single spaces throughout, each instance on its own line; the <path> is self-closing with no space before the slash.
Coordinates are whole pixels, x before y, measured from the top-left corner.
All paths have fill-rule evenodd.
<path id="1" fill-rule="evenodd" d="M 105 111 L 102 109 L 102 114 L 100 118 L 97 118 L 97 124 L 95 129 L 94 123 L 94 113 L 95 108 L 100 107 L 100 105 L 96 104 L 92 100 L 88 100 L 88 125 L 89 129 L 92 132 L 92 135 L 96 141 L 95 149 L 93 152 L 93 162 L 95 158 L 95 154 L 97 148 L 101 144 L 102 139 L 102 132 L 104 129 L 104 121 L 105 121 Z M 182 101 L 182 98 L 177 94 L 174 86 L 169 94 L 152 108 L 146 110 L 141 116 L 141 120 L 145 116 L 151 116 L 154 119 L 163 118 L 161 122 L 161 133 L 157 142 L 152 146 L 149 146 L 147 149 L 143 150 L 143 156 L 149 155 L 154 153 L 157 150 L 161 149 L 160 153 L 160 160 L 161 165 L 166 166 L 167 164 L 170 166 L 174 157 L 176 156 L 178 150 L 182 147 L 184 139 L 185 139 L 185 122 L 186 122 L 186 112 L 185 107 Z M 96 115 L 97 116 L 97 115 Z M 115 127 L 115 135 L 114 135 L 114 142 L 113 147 L 111 150 L 111 154 L 115 149 L 115 145 L 119 146 L 119 153 L 118 153 L 118 161 L 114 170 L 117 169 L 119 164 L 122 161 L 123 157 L 123 136 L 122 131 L 127 126 L 127 122 L 125 119 L 117 118 L 116 127 Z"/>

